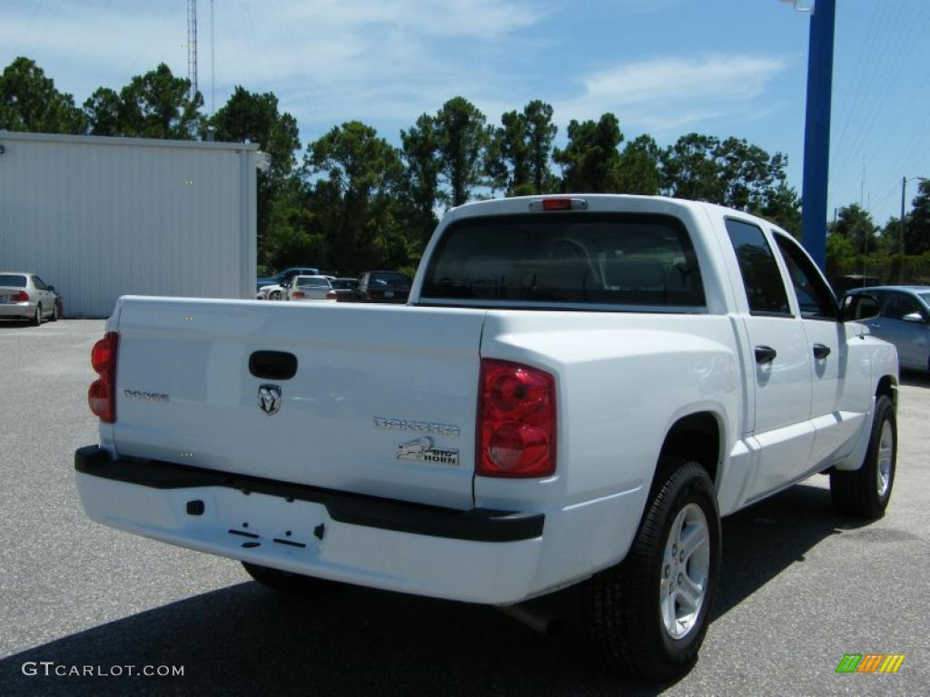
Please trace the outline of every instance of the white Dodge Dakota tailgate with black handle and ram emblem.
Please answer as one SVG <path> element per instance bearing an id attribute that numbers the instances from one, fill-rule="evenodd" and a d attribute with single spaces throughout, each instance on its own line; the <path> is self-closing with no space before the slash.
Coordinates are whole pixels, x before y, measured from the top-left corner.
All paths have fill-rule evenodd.
<path id="1" fill-rule="evenodd" d="M 125 297 L 117 312 L 119 454 L 472 506 L 483 310 Z M 257 351 L 296 373 L 252 375 Z"/>

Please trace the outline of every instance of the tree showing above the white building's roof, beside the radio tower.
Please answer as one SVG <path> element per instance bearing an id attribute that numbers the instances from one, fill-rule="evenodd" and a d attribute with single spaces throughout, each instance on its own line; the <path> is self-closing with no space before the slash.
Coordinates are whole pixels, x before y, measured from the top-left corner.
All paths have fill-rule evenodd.
<path id="1" fill-rule="evenodd" d="M 200 131 L 199 110 L 204 98 L 198 92 L 191 99 L 190 93 L 191 82 L 175 77 L 165 63 L 136 75 L 119 93 L 120 133 L 139 138 L 193 139 Z M 90 127 L 94 130 L 96 125 Z"/>

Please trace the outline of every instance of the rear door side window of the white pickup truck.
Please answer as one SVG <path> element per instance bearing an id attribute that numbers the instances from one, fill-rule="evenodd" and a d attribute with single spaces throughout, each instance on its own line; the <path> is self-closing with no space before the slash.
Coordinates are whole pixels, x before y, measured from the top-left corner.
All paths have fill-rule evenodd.
<path id="1" fill-rule="evenodd" d="M 726 218 L 725 224 L 737 253 L 751 314 L 791 317 L 788 292 L 762 229 L 733 218 Z"/>

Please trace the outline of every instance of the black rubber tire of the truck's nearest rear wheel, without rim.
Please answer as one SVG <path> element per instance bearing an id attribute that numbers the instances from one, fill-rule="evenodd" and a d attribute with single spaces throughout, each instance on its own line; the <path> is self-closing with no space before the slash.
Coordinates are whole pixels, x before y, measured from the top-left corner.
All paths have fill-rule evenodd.
<path id="1" fill-rule="evenodd" d="M 684 674 L 697 661 L 697 651 L 710 625 L 711 601 L 720 571 L 721 530 L 707 470 L 696 462 L 682 460 L 662 465 L 658 476 L 665 479 L 654 488 L 627 558 L 586 581 L 582 598 L 591 634 L 607 664 L 624 673 L 664 682 Z M 704 559 L 700 564 L 706 563 L 707 569 L 701 585 L 703 597 L 690 625 L 685 621 L 679 625 L 671 619 L 671 625 L 683 631 L 683 636 L 675 638 L 662 616 L 663 593 L 668 597 L 663 588 L 668 584 L 668 569 L 671 575 L 679 570 L 690 576 L 692 562 L 689 553 L 683 566 L 674 562 L 671 567 L 669 559 L 678 554 L 672 551 L 671 558 L 666 555 L 675 549 L 670 535 L 680 514 L 696 515 L 692 504 L 706 522 L 708 544 L 700 547 Z M 679 573 L 678 583 L 681 578 Z M 672 612 L 678 607 L 675 598 L 672 593 Z"/>

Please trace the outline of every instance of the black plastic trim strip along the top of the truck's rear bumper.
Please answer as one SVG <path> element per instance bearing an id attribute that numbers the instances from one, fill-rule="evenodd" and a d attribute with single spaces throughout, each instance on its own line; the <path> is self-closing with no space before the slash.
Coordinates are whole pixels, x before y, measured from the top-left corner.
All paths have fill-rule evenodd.
<path id="1" fill-rule="evenodd" d="M 445 537 L 472 542 L 518 542 L 542 535 L 542 513 L 520 513 L 472 508 L 457 510 L 426 506 L 362 493 L 268 480 L 219 472 L 161 460 L 112 459 L 96 445 L 74 452 L 74 469 L 92 477 L 125 481 L 151 489 L 190 489 L 221 486 L 243 493 L 265 493 L 286 500 L 310 501 L 326 506 L 331 519 L 352 525 Z"/>

